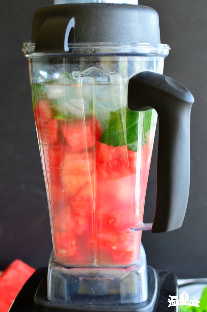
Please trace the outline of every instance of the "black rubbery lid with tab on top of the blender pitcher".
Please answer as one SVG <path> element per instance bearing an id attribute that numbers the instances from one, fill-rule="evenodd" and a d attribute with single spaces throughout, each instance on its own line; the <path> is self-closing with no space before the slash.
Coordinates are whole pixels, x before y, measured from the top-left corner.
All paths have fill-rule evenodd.
<path id="1" fill-rule="evenodd" d="M 33 16 L 35 52 L 68 52 L 68 43 L 160 43 L 159 17 L 151 7 L 114 3 L 57 4 Z"/>

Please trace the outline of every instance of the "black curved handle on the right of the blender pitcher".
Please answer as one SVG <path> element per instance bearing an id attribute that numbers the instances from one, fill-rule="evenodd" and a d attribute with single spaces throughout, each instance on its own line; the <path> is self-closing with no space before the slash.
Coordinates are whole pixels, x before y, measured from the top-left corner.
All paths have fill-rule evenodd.
<path id="1" fill-rule="evenodd" d="M 157 195 L 152 232 L 181 227 L 190 186 L 190 110 L 192 94 L 174 79 L 141 72 L 128 84 L 128 108 L 154 108 L 159 119 Z"/>

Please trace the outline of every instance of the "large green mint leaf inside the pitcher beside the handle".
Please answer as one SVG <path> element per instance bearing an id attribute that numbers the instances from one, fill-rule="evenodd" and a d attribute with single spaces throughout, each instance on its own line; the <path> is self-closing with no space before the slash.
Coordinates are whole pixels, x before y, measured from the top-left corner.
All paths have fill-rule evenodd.
<path id="1" fill-rule="evenodd" d="M 151 118 L 152 111 L 130 111 L 128 107 L 111 111 L 110 118 L 106 121 L 108 129 L 102 133 L 100 142 L 114 147 L 127 145 L 129 150 L 137 151 L 137 147 L 140 145 L 138 144 L 139 122 L 143 122 L 142 145 L 147 144 L 147 132 L 150 130 Z M 125 124 L 123 124 L 124 119 L 126 119 Z"/>

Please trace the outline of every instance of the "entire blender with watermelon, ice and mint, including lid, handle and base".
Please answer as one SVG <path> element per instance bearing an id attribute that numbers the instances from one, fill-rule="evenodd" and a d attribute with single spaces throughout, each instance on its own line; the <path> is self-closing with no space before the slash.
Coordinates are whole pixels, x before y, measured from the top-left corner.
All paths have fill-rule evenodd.
<path id="1" fill-rule="evenodd" d="M 55 0 L 35 12 L 23 52 L 53 252 L 11 311 L 24 291 L 41 311 L 161 311 L 176 295 L 176 277 L 147 266 L 141 244 L 142 230 L 181 227 L 188 201 L 194 99 L 162 75 L 169 49 L 156 11 L 137 0 Z M 156 210 L 145 224 L 157 116 Z"/>

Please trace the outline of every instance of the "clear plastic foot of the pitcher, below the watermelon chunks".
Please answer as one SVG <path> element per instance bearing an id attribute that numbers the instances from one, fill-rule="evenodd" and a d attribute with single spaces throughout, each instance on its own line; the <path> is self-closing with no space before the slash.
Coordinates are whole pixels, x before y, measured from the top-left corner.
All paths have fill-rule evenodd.
<path id="1" fill-rule="evenodd" d="M 151 279 L 154 278 L 152 275 Z M 74 307 L 128 305 L 147 301 L 147 260 L 143 245 L 139 260 L 129 266 L 70 267 L 55 262 L 52 251 L 47 273 L 47 298 Z M 156 276 L 152 288 L 156 287 Z M 156 292 L 156 290 L 155 290 Z M 78 305 L 79 306 L 79 305 Z M 90 307 L 88 308 L 90 310 Z"/>

